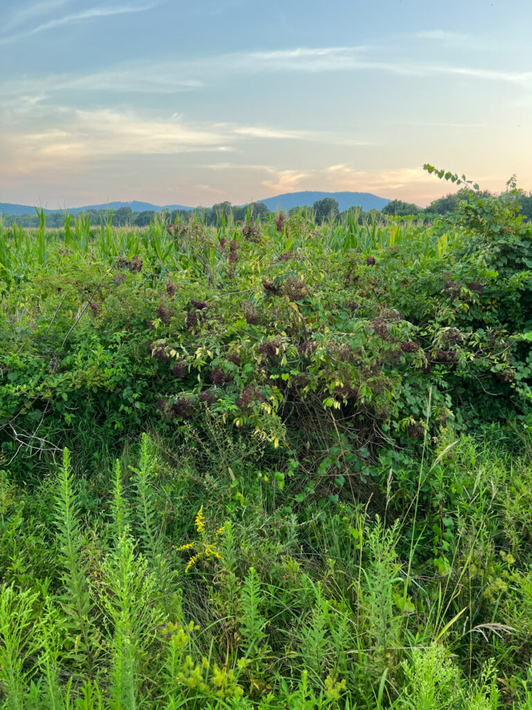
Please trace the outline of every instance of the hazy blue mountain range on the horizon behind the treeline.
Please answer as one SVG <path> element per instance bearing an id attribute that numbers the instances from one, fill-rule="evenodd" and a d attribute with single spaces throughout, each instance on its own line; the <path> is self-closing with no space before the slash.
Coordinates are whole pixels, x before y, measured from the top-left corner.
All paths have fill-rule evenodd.
<path id="1" fill-rule="evenodd" d="M 362 207 L 365 212 L 368 212 L 370 209 L 382 209 L 382 207 L 389 202 L 389 200 L 385 200 L 384 197 L 372 195 L 371 192 L 311 192 L 309 190 L 305 192 L 285 192 L 284 195 L 267 197 L 265 200 L 257 200 L 257 202 L 264 202 L 268 209 L 275 212 L 277 208 L 286 210 L 291 207 L 305 207 L 306 205 L 311 207 L 316 200 L 323 200 L 323 197 L 333 197 L 334 200 L 337 200 L 340 212 L 350 207 Z M 137 200 L 133 200 L 132 202 L 87 204 L 84 205 L 84 207 L 70 207 L 67 209 L 71 214 L 77 214 L 87 209 L 116 210 L 120 209 L 120 207 L 131 207 L 133 212 L 145 212 L 147 210 L 161 212 L 162 209 L 194 209 L 194 207 L 187 207 L 184 204 L 165 204 L 161 207 L 159 204 L 138 202 Z M 48 207 L 45 207 L 44 211 L 45 214 L 50 214 L 51 212 L 65 212 L 65 208 L 48 209 Z M 29 204 L 0 202 L 0 214 L 35 214 L 35 209 Z"/>

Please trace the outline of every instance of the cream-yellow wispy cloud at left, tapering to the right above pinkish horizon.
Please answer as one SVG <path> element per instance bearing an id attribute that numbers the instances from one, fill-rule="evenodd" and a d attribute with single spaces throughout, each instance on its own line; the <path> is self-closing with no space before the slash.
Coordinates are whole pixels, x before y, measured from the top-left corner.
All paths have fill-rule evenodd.
<path id="1" fill-rule="evenodd" d="M 35 119 L 39 122 L 38 130 L 31 128 Z M 182 116 L 167 119 L 116 109 L 72 109 L 40 104 L 31 97 L 23 99 L 20 109 L 13 102 L 9 109 L 4 104 L 3 123 L 5 136 L 24 155 L 70 162 L 106 160 L 113 155 L 226 152 L 234 151 L 244 141 L 356 143 L 352 136 L 342 136 L 335 131 L 194 122 Z M 261 168 L 267 170 L 267 166 Z"/>

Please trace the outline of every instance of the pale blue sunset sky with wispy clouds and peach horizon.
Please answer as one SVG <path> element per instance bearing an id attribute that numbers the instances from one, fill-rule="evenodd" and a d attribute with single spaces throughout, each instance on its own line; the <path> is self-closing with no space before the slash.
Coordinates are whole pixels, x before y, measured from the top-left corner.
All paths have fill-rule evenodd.
<path id="1" fill-rule="evenodd" d="M 532 0 L 1 0 L 0 202 L 532 190 Z"/>

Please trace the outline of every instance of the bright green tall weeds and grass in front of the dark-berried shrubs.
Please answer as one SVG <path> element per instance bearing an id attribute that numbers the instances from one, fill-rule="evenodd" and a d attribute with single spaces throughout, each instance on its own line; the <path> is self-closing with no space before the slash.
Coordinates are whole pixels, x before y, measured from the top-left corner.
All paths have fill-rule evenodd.
<path id="1" fill-rule="evenodd" d="M 196 516 L 196 527 L 206 537 L 193 548 L 194 503 L 177 525 L 164 523 L 158 501 L 171 500 L 183 479 L 159 455 L 144 436 L 131 475 L 117 463 L 101 481 L 112 490 L 84 518 L 65 452 L 52 478 L 53 540 L 64 573 L 36 576 L 31 589 L 4 577 L 1 589 L 4 706 L 529 706 L 528 660 L 516 667 L 519 656 L 508 665 L 508 655 L 529 633 L 532 612 L 521 607 L 511 626 L 511 604 L 482 601 L 482 570 L 472 567 L 480 540 L 505 534 L 509 493 L 495 501 L 489 488 L 526 476 L 530 461 L 510 465 L 465 437 L 444 454 L 456 476 L 474 460 L 477 484 L 463 503 L 468 517 L 453 565 L 441 576 L 424 561 L 431 515 L 421 508 L 415 525 L 397 518 L 390 526 L 361 507 L 332 518 L 316 510 L 288 542 L 279 515 L 250 503 L 231 522 L 220 506 L 227 489 L 204 488 L 206 515 Z M 427 465 L 437 457 L 428 450 Z M 33 496 L 40 494 L 37 486 Z M 185 573 L 194 550 L 203 552 Z M 516 583 L 508 594 L 519 600 Z"/>

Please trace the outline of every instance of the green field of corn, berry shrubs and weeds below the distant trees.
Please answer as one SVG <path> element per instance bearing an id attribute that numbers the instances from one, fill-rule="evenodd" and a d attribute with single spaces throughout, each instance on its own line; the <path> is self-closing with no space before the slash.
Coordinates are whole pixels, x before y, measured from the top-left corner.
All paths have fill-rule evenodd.
<path id="1" fill-rule="evenodd" d="M 2 707 L 532 709 L 512 188 L 0 227 Z"/>

